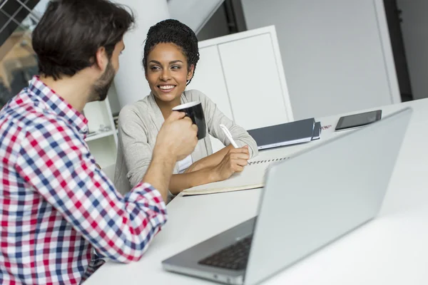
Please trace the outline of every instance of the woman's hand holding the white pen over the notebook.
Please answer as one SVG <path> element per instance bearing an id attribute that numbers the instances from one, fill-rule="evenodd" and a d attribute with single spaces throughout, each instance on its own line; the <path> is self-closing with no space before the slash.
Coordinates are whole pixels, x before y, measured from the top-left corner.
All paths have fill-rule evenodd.
<path id="1" fill-rule="evenodd" d="M 228 179 L 233 173 L 244 170 L 245 165 L 248 165 L 250 152 L 248 146 L 233 148 L 223 157 L 223 160 L 214 167 L 214 172 L 217 181 Z"/>

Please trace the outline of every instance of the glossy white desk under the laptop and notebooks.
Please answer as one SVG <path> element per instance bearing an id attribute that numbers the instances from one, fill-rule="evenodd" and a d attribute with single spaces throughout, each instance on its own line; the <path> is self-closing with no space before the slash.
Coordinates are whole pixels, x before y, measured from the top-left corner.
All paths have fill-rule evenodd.
<path id="1" fill-rule="evenodd" d="M 414 113 L 379 217 L 264 284 L 428 284 L 428 99 L 386 106 L 382 115 L 407 105 Z M 321 140 L 340 135 L 334 133 L 338 118 L 320 118 L 322 125 L 332 125 Z M 316 143 L 261 156 L 287 155 Z M 177 197 L 141 261 L 108 262 L 85 284 L 213 284 L 163 271 L 161 261 L 255 216 L 259 197 L 260 189 Z"/>

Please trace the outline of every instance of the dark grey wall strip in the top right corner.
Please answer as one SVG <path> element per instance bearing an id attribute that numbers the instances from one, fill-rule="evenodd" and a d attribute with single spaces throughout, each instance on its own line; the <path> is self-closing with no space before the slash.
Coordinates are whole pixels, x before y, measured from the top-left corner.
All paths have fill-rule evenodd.
<path id="1" fill-rule="evenodd" d="M 397 0 L 414 99 L 428 98 L 428 1 Z"/>

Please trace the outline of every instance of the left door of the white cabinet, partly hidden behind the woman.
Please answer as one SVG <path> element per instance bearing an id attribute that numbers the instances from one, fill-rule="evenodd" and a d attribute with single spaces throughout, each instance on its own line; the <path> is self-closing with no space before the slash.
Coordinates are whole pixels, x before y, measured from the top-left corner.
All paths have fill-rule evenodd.
<path id="1" fill-rule="evenodd" d="M 217 104 L 217 107 L 223 114 L 233 120 L 228 90 L 226 88 L 217 46 L 200 48 L 199 53 L 200 59 L 195 69 L 195 76 L 187 89 L 200 90 L 200 92 L 207 95 L 208 98 Z M 213 152 L 224 147 L 220 140 L 211 136 L 210 138 L 213 143 Z"/>

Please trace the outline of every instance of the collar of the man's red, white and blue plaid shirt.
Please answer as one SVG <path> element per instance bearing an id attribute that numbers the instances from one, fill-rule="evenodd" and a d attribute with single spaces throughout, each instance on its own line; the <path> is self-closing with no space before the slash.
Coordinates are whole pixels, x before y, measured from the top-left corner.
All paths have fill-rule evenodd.
<path id="1" fill-rule="evenodd" d="M 66 100 L 58 96 L 54 90 L 46 86 L 40 80 L 39 76 L 34 76 L 31 81 L 29 81 L 29 90 L 43 100 L 54 113 L 65 118 L 79 133 L 84 136 L 87 135 L 88 119 L 73 108 L 73 106 L 68 104 Z"/>

